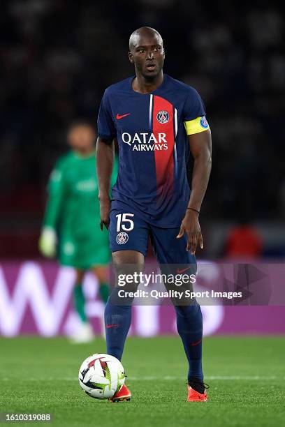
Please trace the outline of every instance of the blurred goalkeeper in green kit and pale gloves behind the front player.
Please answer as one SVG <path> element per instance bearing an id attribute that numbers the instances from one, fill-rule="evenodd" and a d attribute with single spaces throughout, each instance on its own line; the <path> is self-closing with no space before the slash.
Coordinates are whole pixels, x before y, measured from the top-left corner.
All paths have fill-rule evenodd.
<path id="1" fill-rule="evenodd" d="M 48 183 L 49 198 L 39 248 L 46 257 L 57 252 L 61 265 L 75 268 L 73 299 L 81 326 L 73 341 L 85 343 L 92 340 L 93 331 L 85 313 L 82 281 L 85 272 L 91 270 L 98 278 L 102 301 L 107 301 L 110 249 L 108 232 L 101 233 L 96 226 L 100 223 L 100 211 L 94 129 L 87 121 L 74 121 L 68 128 L 67 140 L 71 151 L 59 158 Z M 116 174 L 115 167 L 112 183 Z"/>

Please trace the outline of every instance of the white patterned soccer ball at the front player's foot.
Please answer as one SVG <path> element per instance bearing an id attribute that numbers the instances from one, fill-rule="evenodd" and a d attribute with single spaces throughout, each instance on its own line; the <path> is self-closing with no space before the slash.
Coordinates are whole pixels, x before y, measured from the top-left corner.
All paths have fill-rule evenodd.
<path id="1" fill-rule="evenodd" d="M 78 379 L 88 396 L 110 399 L 124 384 L 124 367 L 109 354 L 92 354 L 80 366 Z"/>

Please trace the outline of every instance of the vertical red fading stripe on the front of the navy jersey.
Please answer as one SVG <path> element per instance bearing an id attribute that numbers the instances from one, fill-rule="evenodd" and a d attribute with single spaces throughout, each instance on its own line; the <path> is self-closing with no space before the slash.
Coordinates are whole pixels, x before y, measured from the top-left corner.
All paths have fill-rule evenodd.
<path id="1" fill-rule="evenodd" d="M 160 123 L 157 119 L 157 114 L 160 111 L 166 111 L 169 114 L 169 120 L 166 123 Z M 156 167 L 156 187 L 158 197 L 173 192 L 174 182 L 174 128 L 173 128 L 173 105 L 168 100 L 154 95 L 154 105 L 152 109 L 152 132 L 159 143 L 159 133 L 166 134 L 168 145 L 167 150 L 154 150 L 154 160 Z"/>

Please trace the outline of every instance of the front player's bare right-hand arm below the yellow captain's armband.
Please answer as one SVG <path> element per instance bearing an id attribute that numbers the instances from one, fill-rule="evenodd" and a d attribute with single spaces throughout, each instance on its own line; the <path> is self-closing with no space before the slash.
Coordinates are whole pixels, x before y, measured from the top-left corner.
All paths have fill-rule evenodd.
<path id="1" fill-rule="evenodd" d="M 191 180 L 191 196 L 187 212 L 182 220 L 177 238 L 187 233 L 187 250 L 196 252 L 197 245 L 203 249 L 203 236 L 199 223 L 199 211 L 209 181 L 212 166 L 212 138 L 207 129 L 188 136 L 191 154 L 193 156 L 193 174 Z"/>

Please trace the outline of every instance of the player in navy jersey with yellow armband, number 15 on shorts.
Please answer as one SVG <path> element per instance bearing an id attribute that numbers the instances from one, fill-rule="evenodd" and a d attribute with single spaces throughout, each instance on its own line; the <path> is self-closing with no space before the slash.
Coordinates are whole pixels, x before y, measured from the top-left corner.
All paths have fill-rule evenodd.
<path id="1" fill-rule="evenodd" d="M 203 248 L 200 207 L 211 169 L 211 133 L 197 91 L 163 73 L 160 34 L 142 27 L 131 34 L 129 60 L 136 75 L 105 90 L 98 113 L 96 161 L 101 224 L 109 228 L 117 271 L 144 264 L 148 237 L 159 264 L 196 264 Z M 119 144 L 119 173 L 109 188 L 113 144 Z M 193 156 L 191 194 L 187 158 Z M 118 304 L 117 287 L 105 307 L 107 352 L 122 358 L 131 324 L 131 304 Z M 122 289 L 122 288 L 121 288 Z M 189 362 L 188 400 L 205 401 L 200 306 L 175 306 L 177 331 Z M 112 400 L 129 400 L 124 386 Z"/>

